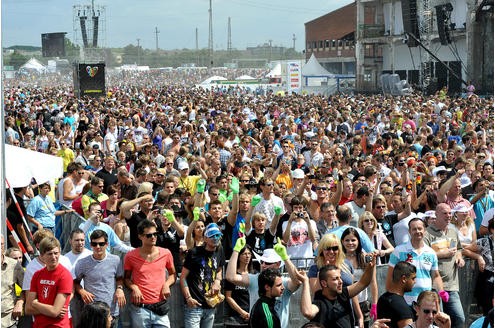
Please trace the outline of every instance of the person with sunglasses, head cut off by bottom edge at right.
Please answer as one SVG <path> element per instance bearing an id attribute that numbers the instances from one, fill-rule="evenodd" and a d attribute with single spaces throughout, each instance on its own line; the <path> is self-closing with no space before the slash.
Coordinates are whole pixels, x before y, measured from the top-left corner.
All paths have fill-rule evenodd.
<path id="1" fill-rule="evenodd" d="M 406 328 L 450 328 L 450 317 L 440 311 L 440 300 L 438 294 L 433 291 L 422 291 L 418 301 L 413 302 L 417 319 Z"/>

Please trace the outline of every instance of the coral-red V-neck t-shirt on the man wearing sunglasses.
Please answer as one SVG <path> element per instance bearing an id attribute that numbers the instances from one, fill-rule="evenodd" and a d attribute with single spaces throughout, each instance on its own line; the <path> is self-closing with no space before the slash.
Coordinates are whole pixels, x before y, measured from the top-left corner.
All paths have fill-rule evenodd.
<path id="1" fill-rule="evenodd" d="M 153 304 L 163 300 L 162 287 L 168 269 L 174 267 L 172 253 L 168 249 L 158 247 L 160 254 L 153 262 L 148 262 L 139 255 L 139 248 L 126 254 L 124 271 L 132 272 L 132 282 L 143 294 L 144 304 Z"/>

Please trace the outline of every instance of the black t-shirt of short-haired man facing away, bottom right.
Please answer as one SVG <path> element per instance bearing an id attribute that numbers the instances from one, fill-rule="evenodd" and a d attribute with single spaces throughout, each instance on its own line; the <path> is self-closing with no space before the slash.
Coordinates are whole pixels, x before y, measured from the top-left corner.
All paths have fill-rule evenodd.
<path id="1" fill-rule="evenodd" d="M 407 305 L 404 297 L 394 293 L 385 292 L 378 299 L 376 307 L 378 319 L 390 319 L 387 323 L 390 328 L 398 328 L 397 323 L 401 320 L 413 319 L 412 309 Z"/>

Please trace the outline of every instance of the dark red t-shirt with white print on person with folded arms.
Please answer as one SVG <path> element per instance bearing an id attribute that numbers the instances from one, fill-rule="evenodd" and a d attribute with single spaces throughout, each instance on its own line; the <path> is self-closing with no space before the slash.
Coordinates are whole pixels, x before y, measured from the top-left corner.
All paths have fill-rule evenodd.
<path id="1" fill-rule="evenodd" d="M 59 264 L 55 270 L 48 271 L 43 268 L 36 271 L 31 280 L 29 291 L 35 292 L 40 303 L 53 305 L 57 294 L 68 294 L 64 307 L 69 307 L 70 294 L 72 293 L 72 275 L 63 265 Z M 34 316 L 33 328 L 62 327 L 70 328 L 69 312 L 63 318 L 51 318 L 43 314 Z"/>

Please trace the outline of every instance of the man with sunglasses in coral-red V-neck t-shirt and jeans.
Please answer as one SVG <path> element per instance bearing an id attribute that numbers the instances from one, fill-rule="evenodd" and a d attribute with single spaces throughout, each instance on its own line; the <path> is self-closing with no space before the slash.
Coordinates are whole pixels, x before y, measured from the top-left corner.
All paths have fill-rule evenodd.
<path id="1" fill-rule="evenodd" d="M 137 226 L 141 246 L 124 258 L 125 285 L 131 290 L 129 307 L 133 327 L 167 327 L 170 286 L 177 278 L 168 249 L 156 246 L 156 224 L 143 220 Z"/>

